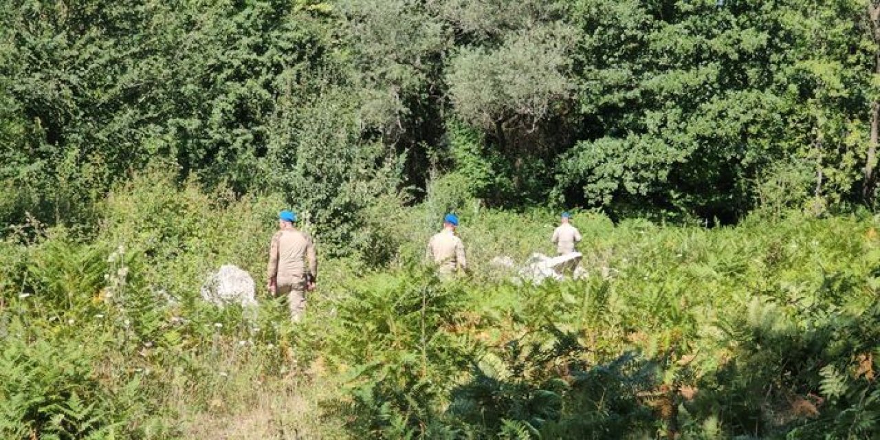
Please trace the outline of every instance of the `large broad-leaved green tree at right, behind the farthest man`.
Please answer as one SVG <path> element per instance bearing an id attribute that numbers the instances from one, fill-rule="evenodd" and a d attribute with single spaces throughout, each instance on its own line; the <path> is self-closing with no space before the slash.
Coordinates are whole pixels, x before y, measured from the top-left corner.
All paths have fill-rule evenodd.
<path id="1" fill-rule="evenodd" d="M 790 160 L 815 164 L 815 194 L 847 198 L 866 90 L 854 5 L 576 4 L 598 127 L 561 156 L 560 193 L 734 221 L 762 170 Z"/>

